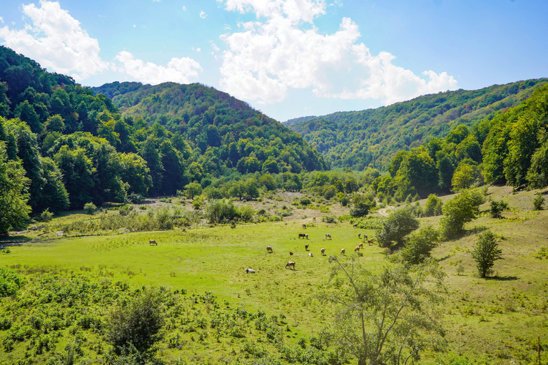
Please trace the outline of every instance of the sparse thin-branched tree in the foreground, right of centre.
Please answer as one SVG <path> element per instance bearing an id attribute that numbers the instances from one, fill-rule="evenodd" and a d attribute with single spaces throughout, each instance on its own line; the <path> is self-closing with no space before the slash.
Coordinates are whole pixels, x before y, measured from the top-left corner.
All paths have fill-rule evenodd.
<path id="1" fill-rule="evenodd" d="M 385 267 L 380 274 L 335 261 L 331 279 L 345 284 L 320 299 L 338 307 L 336 343 L 358 365 L 413 363 L 427 346 L 442 346 L 438 304 L 444 276 L 432 260 Z"/>

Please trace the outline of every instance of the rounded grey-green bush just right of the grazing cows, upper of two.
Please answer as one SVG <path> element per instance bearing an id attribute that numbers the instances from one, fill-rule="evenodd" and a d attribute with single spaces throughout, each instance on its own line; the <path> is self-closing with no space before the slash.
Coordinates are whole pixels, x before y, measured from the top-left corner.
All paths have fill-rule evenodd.
<path id="1" fill-rule="evenodd" d="M 382 222 L 382 228 L 377 230 L 377 241 L 380 247 L 402 245 L 405 236 L 419 227 L 419 221 L 410 207 L 395 210 Z"/>

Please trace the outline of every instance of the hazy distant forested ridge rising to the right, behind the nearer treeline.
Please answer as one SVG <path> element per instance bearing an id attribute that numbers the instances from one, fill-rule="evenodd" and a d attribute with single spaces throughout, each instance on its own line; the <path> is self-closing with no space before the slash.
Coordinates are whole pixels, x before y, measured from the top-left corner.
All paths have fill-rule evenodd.
<path id="1" fill-rule="evenodd" d="M 457 125 L 474 127 L 484 118 L 517 106 L 547 78 L 447 91 L 391 106 L 288 120 L 333 167 L 385 168 L 400 150 L 443 138 Z"/>

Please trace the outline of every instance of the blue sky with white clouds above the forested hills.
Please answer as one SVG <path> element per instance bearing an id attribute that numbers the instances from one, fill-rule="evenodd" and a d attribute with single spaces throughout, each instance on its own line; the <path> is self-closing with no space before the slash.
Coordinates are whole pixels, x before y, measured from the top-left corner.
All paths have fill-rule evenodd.
<path id="1" fill-rule="evenodd" d="M 548 77 L 546 0 L 0 4 L 0 44 L 48 71 L 199 82 L 280 121 Z"/>

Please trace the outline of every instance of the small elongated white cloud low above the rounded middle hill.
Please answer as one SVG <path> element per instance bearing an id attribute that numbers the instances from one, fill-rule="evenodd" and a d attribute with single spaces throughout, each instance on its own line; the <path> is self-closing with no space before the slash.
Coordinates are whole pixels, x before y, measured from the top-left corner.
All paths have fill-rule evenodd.
<path id="1" fill-rule="evenodd" d="M 192 58 L 171 58 L 167 66 L 158 66 L 155 63 L 136 59 L 128 51 L 121 51 L 114 58 L 121 63 L 118 71 L 127 73 L 136 81 L 156 85 L 167 81 L 175 83 L 189 83 L 198 78 L 198 72 L 202 71 L 200 63 Z"/>

